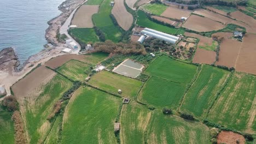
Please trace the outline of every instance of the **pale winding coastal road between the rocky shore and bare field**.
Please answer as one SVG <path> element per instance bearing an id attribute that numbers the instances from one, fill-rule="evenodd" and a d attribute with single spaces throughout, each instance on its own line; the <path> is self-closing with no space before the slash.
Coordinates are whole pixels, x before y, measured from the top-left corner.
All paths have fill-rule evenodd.
<path id="1" fill-rule="evenodd" d="M 77 11 L 77 9 L 80 7 L 80 5 L 84 4 L 84 3 L 87 2 L 87 1 L 88 1 L 88 0 L 86 0 L 86 1 L 82 2 L 81 4 L 79 4 L 78 7 L 75 8 L 75 9 L 72 11 L 72 13 L 69 15 L 69 17 L 68 17 L 68 19 L 65 21 L 65 23 L 60 27 L 60 34 L 66 34 L 69 39 L 72 39 L 72 40 L 77 44 L 78 49 L 72 51 L 72 53 L 76 53 L 76 54 L 80 51 L 81 46 L 77 43 L 77 41 L 75 41 L 75 40 L 68 34 L 67 30 L 68 30 L 68 27 L 69 27 L 69 25 L 70 25 L 70 23 L 71 23 L 72 17 L 73 17 L 73 15 L 75 14 L 75 11 Z"/>

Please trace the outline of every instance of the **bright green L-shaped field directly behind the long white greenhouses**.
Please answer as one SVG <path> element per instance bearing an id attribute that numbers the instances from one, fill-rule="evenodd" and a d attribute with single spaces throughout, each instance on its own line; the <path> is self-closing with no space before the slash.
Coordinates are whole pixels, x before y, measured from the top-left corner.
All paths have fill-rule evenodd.
<path id="1" fill-rule="evenodd" d="M 152 28 L 156 31 L 161 31 L 169 34 L 184 34 L 185 32 L 183 29 L 167 27 L 164 25 L 160 25 L 156 22 L 150 21 L 147 15 L 142 10 L 138 10 L 138 19 L 136 24 L 142 27 Z"/>

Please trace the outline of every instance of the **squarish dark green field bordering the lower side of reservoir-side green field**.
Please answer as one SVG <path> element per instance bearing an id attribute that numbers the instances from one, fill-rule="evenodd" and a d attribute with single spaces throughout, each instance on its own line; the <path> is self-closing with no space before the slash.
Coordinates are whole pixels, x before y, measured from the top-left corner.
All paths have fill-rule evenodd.
<path id="1" fill-rule="evenodd" d="M 181 83 L 152 76 L 144 85 L 138 99 L 154 106 L 177 108 L 184 89 L 185 86 Z"/>

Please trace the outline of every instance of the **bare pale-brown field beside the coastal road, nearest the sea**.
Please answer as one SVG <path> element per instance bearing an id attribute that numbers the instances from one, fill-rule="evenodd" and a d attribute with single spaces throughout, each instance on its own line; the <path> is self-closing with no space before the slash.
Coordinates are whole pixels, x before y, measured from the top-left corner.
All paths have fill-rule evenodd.
<path id="1" fill-rule="evenodd" d="M 98 13 L 98 5 L 82 5 L 75 13 L 71 23 L 79 28 L 92 28 L 94 23 L 92 23 L 91 16 L 96 13 Z"/>

